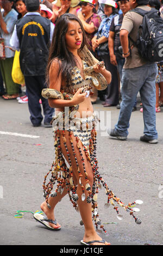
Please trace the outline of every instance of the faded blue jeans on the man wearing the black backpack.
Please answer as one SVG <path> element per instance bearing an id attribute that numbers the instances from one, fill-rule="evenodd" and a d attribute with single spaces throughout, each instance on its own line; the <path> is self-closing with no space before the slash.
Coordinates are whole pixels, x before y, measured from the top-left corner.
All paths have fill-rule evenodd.
<path id="1" fill-rule="evenodd" d="M 131 112 L 136 95 L 140 92 L 145 125 L 144 134 L 149 139 L 158 138 L 155 113 L 155 80 L 157 74 L 158 66 L 156 63 L 122 70 L 122 102 L 118 122 L 115 125 L 115 130 L 120 136 L 128 135 Z"/>

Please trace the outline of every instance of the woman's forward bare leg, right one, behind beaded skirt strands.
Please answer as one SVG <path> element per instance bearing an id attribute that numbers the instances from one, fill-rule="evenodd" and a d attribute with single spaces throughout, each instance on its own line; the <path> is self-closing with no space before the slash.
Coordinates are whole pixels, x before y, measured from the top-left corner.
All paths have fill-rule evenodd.
<path id="1" fill-rule="evenodd" d="M 79 141 L 79 145 L 80 145 L 80 151 L 79 152 L 79 148 L 77 147 L 77 141 L 76 141 L 76 137 L 72 136 L 72 141 L 73 141 L 73 148 L 74 151 L 72 150 L 72 145 L 70 143 L 70 135 L 69 132 L 65 132 L 65 138 L 66 138 L 66 146 L 68 149 L 68 153 L 70 153 L 70 157 L 71 157 L 71 163 L 72 163 L 72 170 L 73 170 L 73 179 L 74 176 L 77 180 L 77 194 L 78 194 L 78 201 L 77 204 L 79 206 L 79 212 L 80 215 L 82 217 L 82 221 L 84 223 L 84 228 L 85 228 L 85 234 L 83 237 L 83 240 L 85 242 L 87 241 L 92 241 L 92 240 L 102 240 L 102 238 L 96 233 L 95 230 L 95 226 L 92 222 L 92 205 L 91 203 L 87 203 L 86 199 L 84 201 L 82 201 L 82 188 L 79 184 L 79 173 L 78 173 L 78 167 L 76 165 L 76 161 L 75 158 L 73 156 L 73 153 L 75 152 L 76 154 L 76 159 L 78 161 L 79 164 L 79 170 L 80 173 L 83 175 L 82 177 L 82 185 L 84 186 L 84 193 L 85 193 L 85 198 L 87 198 L 87 196 L 89 196 L 89 193 L 85 190 L 85 185 L 86 185 L 86 180 L 85 180 L 85 174 L 84 174 L 84 168 L 83 168 L 83 162 L 81 160 L 81 157 L 83 156 L 84 159 L 84 163 L 85 163 L 85 169 L 86 169 L 86 173 L 87 173 L 87 179 L 89 180 L 89 185 L 92 188 L 93 185 L 93 172 L 92 172 L 92 167 L 90 162 L 87 160 L 87 157 L 85 155 L 85 152 L 83 150 L 83 144 L 81 141 Z M 67 154 L 66 154 L 66 149 L 64 146 L 64 141 L 62 139 L 62 137 L 60 137 L 60 143 L 61 143 L 61 150 L 62 153 L 64 154 L 64 156 L 67 159 Z M 80 155 L 82 154 L 82 156 Z M 93 243 L 93 245 L 102 245 L 102 243 Z M 106 243 L 106 245 L 109 245 L 110 243 Z"/>

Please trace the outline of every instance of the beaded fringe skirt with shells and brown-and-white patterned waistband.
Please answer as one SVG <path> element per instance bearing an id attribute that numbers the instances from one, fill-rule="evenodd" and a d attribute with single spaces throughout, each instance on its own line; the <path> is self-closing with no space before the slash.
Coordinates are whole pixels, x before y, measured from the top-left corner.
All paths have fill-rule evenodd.
<path id="1" fill-rule="evenodd" d="M 61 118 L 62 117 L 60 116 L 59 120 L 61 120 Z M 115 196 L 115 194 L 109 189 L 108 185 L 104 182 L 102 176 L 99 174 L 98 162 L 96 158 L 97 131 L 95 130 L 95 127 L 98 121 L 99 121 L 98 117 L 94 113 L 92 114 L 91 117 L 88 117 L 88 118 L 73 118 L 73 123 L 69 121 L 70 125 L 68 129 L 68 134 L 70 137 L 70 143 L 73 150 L 74 159 L 76 161 L 77 168 L 78 168 L 79 184 L 82 190 L 82 201 L 86 200 L 88 204 L 90 203 L 92 204 L 92 220 L 95 221 L 96 229 L 98 229 L 98 225 L 99 225 L 99 227 L 103 229 L 104 232 L 106 233 L 106 230 L 104 229 L 104 225 L 99 220 L 99 214 L 98 214 L 97 194 L 98 194 L 99 188 L 102 188 L 102 187 L 105 188 L 105 194 L 106 194 L 107 200 L 104 205 L 104 208 L 109 208 L 110 204 L 114 206 L 114 209 L 117 212 L 117 218 L 119 220 L 122 220 L 122 215 L 120 214 L 118 209 L 118 207 L 121 206 L 124 210 L 129 212 L 131 216 L 134 217 L 135 222 L 137 224 L 141 224 L 141 220 L 134 216 L 134 212 L 139 211 L 139 209 L 135 208 L 134 206 L 136 204 L 142 204 L 143 202 L 141 200 L 136 200 L 135 202 L 129 203 L 127 205 L 122 203 L 120 198 Z M 66 120 L 64 120 L 64 124 L 65 122 Z M 72 163 L 71 163 L 70 154 L 68 152 L 67 145 L 66 145 L 65 131 L 59 129 L 59 124 L 56 122 L 56 118 L 53 119 L 53 130 L 54 130 L 55 160 L 52 164 L 51 169 L 47 173 L 47 175 L 51 173 L 51 178 L 46 184 L 46 179 L 47 179 L 47 175 L 46 175 L 43 181 L 43 196 L 46 198 L 48 208 L 51 209 L 51 205 L 49 205 L 48 203 L 48 198 L 57 196 L 57 193 L 62 194 L 62 192 L 66 188 L 70 201 L 73 204 L 73 207 L 78 211 L 77 186 L 75 186 L 73 183 L 73 172 L 72 172 L 72 165 L 71 165 Z M 64 146 L 65 146 L 67 157 L 69 160 L 68 166 L 65 161 L 65 157 L 61 152 L 60 136 L 64 141 Z M 81 173 L 79 169 L 76 152 L 74 151 L 72 136 L 76 137 L 77 148 L 81 156 L 81 161 L 83 162 L 83 170 L 84 170 L 85 181 L 86 181 L 85 186 L 83 186 L 82 184 L 83 172 Z M 82 142 L 83 150 L 80 148 L 81 143 L 79 143 L 79 141 Z M 89 180 L 87 179 L 87 172 L 86 172 L 83 153 L 82 153 L 83 151 L 87 157 L 87 160 L 90 162 L 91 168 L 92 168 L 92 174 L 93 174 L 92 188 L 89 185 Z M 54 185 L 57 185 L 57 188 L 55 188 L 55 190 L 53 191 Z M 87 197 L 85 195 L 85 191 L 87 191 L 86 193 Z M 83 222 L 80 221 L 80 224 L 82 225 Z"/>

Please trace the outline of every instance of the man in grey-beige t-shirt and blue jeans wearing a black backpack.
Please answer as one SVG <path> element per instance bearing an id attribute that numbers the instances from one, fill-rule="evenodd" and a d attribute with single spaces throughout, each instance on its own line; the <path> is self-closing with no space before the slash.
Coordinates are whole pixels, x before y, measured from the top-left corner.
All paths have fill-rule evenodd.
<path id="1" fill-rule="evenodd" d="M 131 10 L 123 17 L 120 40 L 123 49 L 123 57 L 126 58 L 126 62 L 122 70 L 121 110 L 115 128 L 111 130 L 111 132 L 108 131 L 108 133 L 111 137 L 126 141 L 135 97 L 137 93 L 140 92 L 145 125 L 143 131 L 144 135 L 140 137 L 140 141 L 155 144 L 158 143 L 155 113 L 155 80 L 158 74 L 158 66 L 153 62 L 153 57 L 155 56 L 154 50 L 152 50 L 153 56 L 150 56 L 151 59 L 153 58 L 152 60 L 149 60 L 148 56 L 142 56 L 140 53 L 140 48 L 137 46 L 137 34 L 144 19 L 142 15 L 132 10 L 139 8 L 139 10 L 142 9 L 147 12 L 152 11 L 152 8 L 148 7 L 147 4 L 148 0 L 130 0 Z M 160 19 L 162 18 L 160 17 Z M 150 49 L 148 49 L 147 53 L 150 52 L 149 50 Z"/>

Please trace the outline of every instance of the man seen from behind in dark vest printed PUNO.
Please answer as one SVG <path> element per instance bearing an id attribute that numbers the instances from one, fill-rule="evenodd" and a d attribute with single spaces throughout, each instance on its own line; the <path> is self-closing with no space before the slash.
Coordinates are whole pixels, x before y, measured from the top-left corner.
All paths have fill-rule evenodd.
<path id="1" fill-rule="evenodd" d="M 44 125 L 51 127 L 54 109 L 49 107 L 48 100 L 41 96 L 41 91 L 46 88 L 48 47 L 54 25 L 40 15 L 39 0 L 26 0 L 26 8 L 28 13 L 17 21 L 10 45 L 16 50 L 20 48 L 20 66 L 26 83 L 30 120 L 34 127 L 41 125 L 41 99 L 45 115 Z"/>

